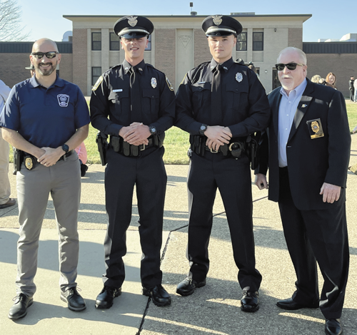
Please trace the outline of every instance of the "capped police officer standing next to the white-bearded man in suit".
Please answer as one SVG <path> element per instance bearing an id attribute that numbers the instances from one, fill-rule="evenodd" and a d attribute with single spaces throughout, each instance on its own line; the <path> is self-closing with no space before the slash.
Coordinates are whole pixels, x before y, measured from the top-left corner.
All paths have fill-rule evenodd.
<path id="1" fill-rule="evenodd" d="M 241 24 L 231 16 L 208 16 L 202 29 L 213 58 L 189 71 L 176 94 L 175 125 L 190 133 L 192 150 L 188 172 L 190 270 L 176 292 L 187 296 L 206 284 L 218 187 L 243 289 L 241 309 L 257 311 L 261 274 L 255 268 L 251 172 L 245 141 L 268 125 L 270 110 L 256 74 L 232 59 Z"/>

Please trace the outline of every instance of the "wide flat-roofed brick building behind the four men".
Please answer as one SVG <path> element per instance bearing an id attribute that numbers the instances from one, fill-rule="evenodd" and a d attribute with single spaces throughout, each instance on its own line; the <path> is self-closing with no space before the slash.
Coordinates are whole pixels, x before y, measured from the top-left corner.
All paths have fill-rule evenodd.
<path id="1" fill-rule="evenodd" d="M 253 13 L 231 14 L 241 22 L 243 31 L 238 36 L 233 59 L 242 58 L 254 66 L 266 91 L 279 86 L 274 67 L 278 52 L 286 46 L 303 48 L 308 57 L 308 78 L 315 74 L 325 77 L 328 72 L 336 74 L 337 86 L 348 96 L 348 80 L 356 67 L 357 42 L 303 43 L 303 22 L 311 14 L 255 15 Z M 113 31 L 121 16 L 75 16 L 64 15 L 73 23 L 71 42 L 59 42 L 62 61 L 59 64 L 61 78 L 76 83 L 86 96 L 101 73 L 124 60 L 119 38 Z M 185 73 L 203 61 L 209 61 L 206 36 L 201 23 L 206 16 L 147 16 L 155 26 L 145 61 L 166 73 L 176 89 Z M 317 46 L 313 46 L 316 44 Z M 326 45 L 338 45 L 335 48 Z M 324 46 L 325 45 L 325 46 Z M 0 43 L 0 78 L 7 85 L 29 77 L 29 53 L 31 42 Z M 11 66 L 6 66 L 11 64 Z"/>

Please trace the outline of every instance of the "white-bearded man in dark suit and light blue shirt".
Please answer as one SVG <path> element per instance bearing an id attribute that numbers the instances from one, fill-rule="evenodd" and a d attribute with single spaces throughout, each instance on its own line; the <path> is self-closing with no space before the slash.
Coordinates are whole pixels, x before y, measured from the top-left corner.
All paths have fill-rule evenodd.
<path id="1" fill-rule="evenodd" d="M 278 202 L 296 271 L 296 292 L 282 309 L 317 308 L 326 334 L 342 334 L 348 277 L 346 179 L 351 146 L 342 94 L 306 79 L 306 55 L 285 48 L 278 56 L 281 88 L 269 93 L 272 120 L 262 145 L 256 185 Z M 316 260 L 323 274 L 318 304 Z"/>

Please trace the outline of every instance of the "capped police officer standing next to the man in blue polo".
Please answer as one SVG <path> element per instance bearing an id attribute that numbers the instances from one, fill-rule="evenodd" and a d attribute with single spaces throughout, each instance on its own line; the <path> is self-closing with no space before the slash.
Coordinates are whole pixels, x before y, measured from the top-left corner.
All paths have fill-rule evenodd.
<path id="1" fill-rule="evenodd" d="M 174 88 L 164 73 L 144 62 L 148 37 L 154 31 L 149 19 L 125 16 L 114 24 L 125 51 L 123 63 L 106 71 L 92 88 L 91 123 L 110 135 L 106 152 L 106 212 L 104 241 L 106 273 L 96 307 L 108 309 L 121 294 L 125 278 L 126 230 L 131 221 L 134 185 L 140 216 L 143 256 L 143 294 L 156 306 L 171 304 L 161 286 L 160 249 L 166 192 L 164 132 L 175 117 Z"/>

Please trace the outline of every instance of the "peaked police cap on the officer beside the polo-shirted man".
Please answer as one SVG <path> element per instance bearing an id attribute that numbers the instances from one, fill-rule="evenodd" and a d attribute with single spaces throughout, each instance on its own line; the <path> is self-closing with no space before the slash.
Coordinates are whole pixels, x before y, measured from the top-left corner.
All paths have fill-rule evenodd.
<path id="1" fill-rule="evenodd" d="M 119 38 L 141 38 L 153 31 L 154 24 L 144 16 L 124 16 L 114 24 L 114 32 Z"/>

